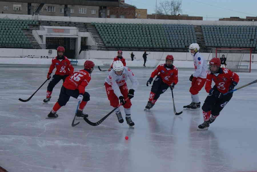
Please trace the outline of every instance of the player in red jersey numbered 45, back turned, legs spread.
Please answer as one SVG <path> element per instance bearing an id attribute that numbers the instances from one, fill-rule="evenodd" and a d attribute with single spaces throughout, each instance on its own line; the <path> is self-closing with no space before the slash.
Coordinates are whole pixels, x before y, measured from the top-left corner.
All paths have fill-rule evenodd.
<path id="1" fill-rule="evenodd" d="M 77 112 L 77 117 L 88 117 L 87 114 L 83 113 L 83 109 L 87 102 L 90 100 L 90 95 L 85 91 L 85 87 L 91 80 L 91 73 L 94 70 L 95 64 L 93 61 L 87 60 L 84 63 L 84 69 L 74 72 L 65 79 L 58 101 L 55 103 L 52 111 L 47 115 L 47 118 L 57 118 L 56 112 L 65 106 L 69 101 L 70 97 L 78 99 L 81 103 Z"/>

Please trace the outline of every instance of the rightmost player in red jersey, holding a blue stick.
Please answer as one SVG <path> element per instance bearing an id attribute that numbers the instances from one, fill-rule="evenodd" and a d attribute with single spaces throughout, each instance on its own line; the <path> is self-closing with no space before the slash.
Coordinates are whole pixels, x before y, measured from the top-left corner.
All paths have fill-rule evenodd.
<path id="1" fill-rule="evenodd" d="M 213 123 L 220 111 L 230 101 L 233 93 L 227 93 L 234 89 L 239 81 L 236 73 L 229 69 L 220 67 L 221 61 L 219 58 L 210 60 L 210 72 L 207 74 L 205 90 L 209 95 L 206 97 L 202 106 L 204 123 L 198 126 L 198 130 L 206 130 Z M 215 85 L 212 86 L 212 81 Z M 211 117 L 210 117 L 211 115 Z"/>

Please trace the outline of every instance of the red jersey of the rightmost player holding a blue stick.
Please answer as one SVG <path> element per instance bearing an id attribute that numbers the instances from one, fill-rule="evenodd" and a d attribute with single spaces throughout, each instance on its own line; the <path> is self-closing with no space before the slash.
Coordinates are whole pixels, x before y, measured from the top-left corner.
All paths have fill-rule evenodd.
<path id="1" fill-rule="evenodd" d="M 209 93 L 212 88 L 212 80 L 218 88 L 218 91 L 224 94 L 228 92 L 229 86 L 232 85 L 233 81 L 236 83 L 239 82 L 239 76 L 226 68 L 220 68 L 219 73 L 216 74 L 208 72 L 205 83 L 205 90 L 207 93 Z"/>

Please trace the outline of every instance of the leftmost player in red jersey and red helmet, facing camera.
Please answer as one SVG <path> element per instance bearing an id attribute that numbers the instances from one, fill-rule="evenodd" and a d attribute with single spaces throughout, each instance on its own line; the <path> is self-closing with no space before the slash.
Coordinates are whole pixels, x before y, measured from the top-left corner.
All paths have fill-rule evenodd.
<path id="1" fill-rule="evenodd" d="M 58 47 L 57 48 L 57 56 L 53 58 L 52 64 L 50 65 L 49 71 L 47 73 L 47 78 L 51 78 L 51 73 L 53 72 L 53 69 L 56 67 L 55 75 L 53 75 L 53 78 L 49 82 L 47 86 L 47 95 L 46 98 L 43 100 L 44 103 L 47 103 L 51 99 L 51 94 L 53 91 L 53 88 L 61 79 L 65 80 L 65 78 L 69 75 L 73 74 L 74 67 L 71 65 L 71 62 L 69 59 L 64 56 L 65 49 L 64 47 Z"/>

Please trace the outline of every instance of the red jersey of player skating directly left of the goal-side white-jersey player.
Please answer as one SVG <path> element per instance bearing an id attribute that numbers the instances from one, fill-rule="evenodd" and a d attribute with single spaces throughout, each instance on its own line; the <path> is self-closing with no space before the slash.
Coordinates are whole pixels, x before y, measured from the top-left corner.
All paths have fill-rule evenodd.
<path id="1" fill-rule="evenodd" d="M 173 69 L 167 69 L 164 67 L 165 64 L 159 65 L 151 74 L 151 77 L 155 77 L 156 75 L 160 75 L 162 81 L 169 86 L 174 83 L 175 85 L 178 83 L 178 69 L 173 66 Z M 159 74 L 158 74 L 159 73 Z"/>

